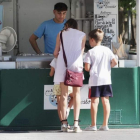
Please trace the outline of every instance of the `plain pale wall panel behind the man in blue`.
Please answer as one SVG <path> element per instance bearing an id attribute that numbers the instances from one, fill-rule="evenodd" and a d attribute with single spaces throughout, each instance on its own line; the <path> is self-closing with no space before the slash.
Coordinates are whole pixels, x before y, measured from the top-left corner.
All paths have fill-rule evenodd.
<path id="1" fill-rule="evenodd" d="M 64 2 L 69 6 L 69 0 L 19 0 L 19 47 L 20 52 L 35 53 L 29 43 L 29 37 L 45 20 L 54 17 L 53 8 L 57 2 Z M 67 19 L 70 17 L 70 9 Z M 44 52 L 44 40 L 38 39 L 38 45 Z"/>

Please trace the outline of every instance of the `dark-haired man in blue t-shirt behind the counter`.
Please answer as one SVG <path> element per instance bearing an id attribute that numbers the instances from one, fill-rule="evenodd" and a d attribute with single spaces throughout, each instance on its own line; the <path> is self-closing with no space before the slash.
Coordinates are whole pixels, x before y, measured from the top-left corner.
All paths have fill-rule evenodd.
<path id="1" fill-rule="evenodd" d="M 45 53 L 53 54 L 56 44 L 57 34 L 63 29 L 66 22 L 67 5 L 59 2 L 54 5 L 53 13 L 55 17 L 51 20 L 44 21 L 38 29 L 31 35 L 29 41 L 37 54 L 41 54 L 37 39 L 44 36 Z"/>

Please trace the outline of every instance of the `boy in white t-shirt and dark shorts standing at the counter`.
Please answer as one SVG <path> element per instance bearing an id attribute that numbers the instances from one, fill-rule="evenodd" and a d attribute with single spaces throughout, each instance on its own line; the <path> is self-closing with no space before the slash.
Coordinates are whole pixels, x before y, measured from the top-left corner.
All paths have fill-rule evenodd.
<path id="1" fill-rule="evenodd" d="M 104 121 L 99 130 L 109 130 L 108 119 L 110 115 L 109 97 L 113 97 L 111 87 L 111 67 L 117 65 L 112 51 L 101 45 L 104 32 L 95 29 L 89 33 L 89 43 L 93 49 L 89 50 L 85 56 L 85 70 L 90 71 L 89 86 L 91 87 L 91 126 L 87 127 L 87 131 L 96 131 L 96 116 L 101 97 Z"/>

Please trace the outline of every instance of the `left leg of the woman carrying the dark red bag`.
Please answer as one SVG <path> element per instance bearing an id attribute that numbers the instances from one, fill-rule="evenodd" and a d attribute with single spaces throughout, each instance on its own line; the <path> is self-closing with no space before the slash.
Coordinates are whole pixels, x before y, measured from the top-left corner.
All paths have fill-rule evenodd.
<path id="1" fill-rule="evenodd" d="M 61 86 L 61 97 L 60 97 L 60 105 L 61 105 L 61 113 L 62 120 L 66 120 L 66 110 L 67 110 L 67 98 L 68 98 L 68 86 L 65 86 L 64 83 L 60 83 Z M 63 124 L 66 124 L 66 121 L 63 121 Z"/>

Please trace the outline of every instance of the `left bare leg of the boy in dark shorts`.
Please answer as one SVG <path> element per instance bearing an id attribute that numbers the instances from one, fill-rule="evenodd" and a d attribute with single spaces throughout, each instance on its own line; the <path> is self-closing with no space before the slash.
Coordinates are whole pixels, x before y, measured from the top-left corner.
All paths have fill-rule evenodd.
<path id="1" fill-rule="evenodd" d="M 92 97 L 91 98 L 91 126 L 96 126 L 98 104 L 99 104 L 99 98 Z"/>

